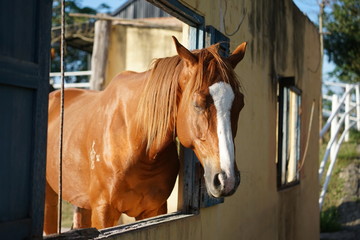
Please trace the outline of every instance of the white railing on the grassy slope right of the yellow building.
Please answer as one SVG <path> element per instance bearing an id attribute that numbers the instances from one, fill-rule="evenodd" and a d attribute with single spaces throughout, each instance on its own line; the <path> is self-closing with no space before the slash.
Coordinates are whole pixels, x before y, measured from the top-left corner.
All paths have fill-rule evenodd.
<path id="1" fill-rule="evenodd" d="M 323 110 L 323 115 L 328 115 L 328 119 L 320 131 L 320 138 L 330 129 L 330 140 L 326 146 L 324 157 L 320 163 L 319 179 L 322 179 L 325 165 L 330 156 L 325 181 L 320 193 L 320 210 L 324 203 L 327 187 L 330 182 L 331 173 L 334 169 L 336 157 L 343 141 L 349 140 L 349 130 L 356 126 L 360 131 L 360 84 L 345 84 L 324 82 L 323 85 L 340 88 L 340 92 L 332 96 L 323 95 L 324 101 L 331 102 L 331 110 Z"/>

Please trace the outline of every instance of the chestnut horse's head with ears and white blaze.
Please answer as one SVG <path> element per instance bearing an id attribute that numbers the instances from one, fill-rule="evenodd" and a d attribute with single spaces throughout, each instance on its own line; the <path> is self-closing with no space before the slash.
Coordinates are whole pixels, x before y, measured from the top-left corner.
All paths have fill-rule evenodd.
<path id="1" fill-rule="evenodd" d="M 190 52 L 176 38 L 174 42 L 183 61 L 177 136 L 203 166 L 208 193 L 216 198 L 232 195 L 240 183 L 234 138 L 244 106 L 234 68 L 244 57 L 246 43 L 223 58 L 219 45 Z"/>

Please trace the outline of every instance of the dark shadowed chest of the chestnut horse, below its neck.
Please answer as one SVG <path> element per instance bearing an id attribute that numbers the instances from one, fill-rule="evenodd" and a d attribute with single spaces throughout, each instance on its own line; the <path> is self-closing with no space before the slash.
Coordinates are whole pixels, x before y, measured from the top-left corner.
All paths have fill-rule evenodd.
<path id="1" fill-rule="evenodd" d="M 122 203 L 118 206 L 123 207 L 119 211 L 126 209 L 129 216 L 140 217 L 141 213 L 160 209 L 171 194 L 178 170 L 179 160 L 174 143 L 159 152 L 155 159 L 142 156 L 119 182 L 121 188 L 114 189 L 115 199 Z"/>

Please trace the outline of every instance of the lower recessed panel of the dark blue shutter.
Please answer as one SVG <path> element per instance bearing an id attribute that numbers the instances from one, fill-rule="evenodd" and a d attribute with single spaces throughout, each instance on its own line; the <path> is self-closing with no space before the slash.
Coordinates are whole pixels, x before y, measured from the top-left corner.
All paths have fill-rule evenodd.
<path id="1" fill-rule="evenodd" d="M 0 222 L 29 215 L 33 91 L 0 85 Z"/>

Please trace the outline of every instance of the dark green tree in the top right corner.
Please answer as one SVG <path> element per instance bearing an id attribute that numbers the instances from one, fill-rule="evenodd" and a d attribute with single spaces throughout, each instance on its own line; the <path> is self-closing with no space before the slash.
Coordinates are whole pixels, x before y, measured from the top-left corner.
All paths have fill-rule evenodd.
<path id="1" fill-rule="evenodd" d="M 324 48 L 336 65 L 331 73 L 343 82 L 360 82 L 360 1 L 333 0 L 325 13 Z"/>

